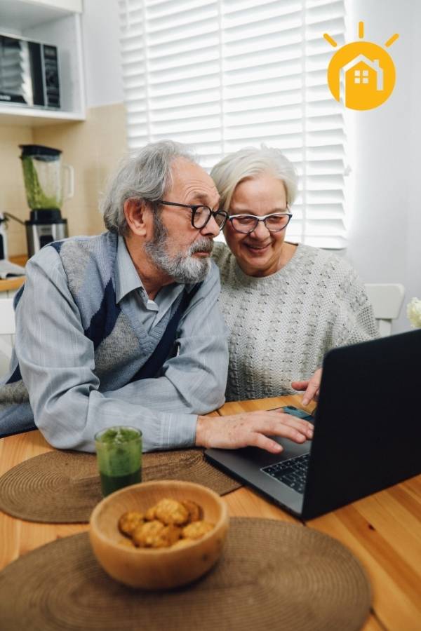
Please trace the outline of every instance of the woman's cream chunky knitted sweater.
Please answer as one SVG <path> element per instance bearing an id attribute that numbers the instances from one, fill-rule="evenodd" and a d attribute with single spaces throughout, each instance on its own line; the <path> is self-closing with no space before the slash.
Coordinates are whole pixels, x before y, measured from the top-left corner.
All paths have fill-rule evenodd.
<path id="1" fill-rule="evenodd" d="M 330 348 L 378 336 L 361 280 L 330 252 L 298 245 L 264 278 L 243 273 L 223 243 L 213 258 L 229 327 L 227 401 L 293 393 L 291 381 L 308 379 Z"/>

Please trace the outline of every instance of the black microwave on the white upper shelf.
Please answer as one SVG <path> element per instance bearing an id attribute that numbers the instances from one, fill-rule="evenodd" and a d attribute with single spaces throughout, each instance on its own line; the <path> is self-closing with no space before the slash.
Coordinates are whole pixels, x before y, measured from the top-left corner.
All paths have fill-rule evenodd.
<path id="1" fill-rule="evenodd" d="M 0 102 L 60 108 L 57 46 L 0 34 Z"/>

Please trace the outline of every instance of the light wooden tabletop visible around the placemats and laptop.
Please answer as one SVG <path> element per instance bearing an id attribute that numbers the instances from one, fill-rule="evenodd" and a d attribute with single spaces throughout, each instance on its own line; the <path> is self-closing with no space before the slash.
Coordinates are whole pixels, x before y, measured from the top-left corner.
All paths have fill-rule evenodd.
<path id="1" fill-rule="evenodd" d="M 227 403 L 218 413 L 300 405 L 299 396 Z M 38 454 L 53 451 L 38 431 L 0 440 L 0 475 Z M 233 517 L 299 520 L 246 487 L 224 496 Z M 421 475 L 310 520 L 335 537 L 366 567 L 373 586 L 373 611 L 363 631 L 421 630 Z M 0 569 L 29 550 L 56 538 L 86 531 L 88 524 L 38 524 L 0 511 Z M 340 631 L 340 630 L 338 630 Z"/>

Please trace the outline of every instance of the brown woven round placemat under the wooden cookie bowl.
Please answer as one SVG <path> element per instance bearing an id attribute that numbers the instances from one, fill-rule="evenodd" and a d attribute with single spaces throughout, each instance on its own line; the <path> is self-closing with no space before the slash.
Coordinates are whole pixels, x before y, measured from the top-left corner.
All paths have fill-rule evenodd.
<path id="1" fill-rule="evenodd" d="M 363 568 L 335 539 L 243 517 L 231 520 L 218 564 L 184 588 L 116 583 L 83 533 L 10 564 L 0 593 L 3 631 L 357 631 L 371 599 Z"/>

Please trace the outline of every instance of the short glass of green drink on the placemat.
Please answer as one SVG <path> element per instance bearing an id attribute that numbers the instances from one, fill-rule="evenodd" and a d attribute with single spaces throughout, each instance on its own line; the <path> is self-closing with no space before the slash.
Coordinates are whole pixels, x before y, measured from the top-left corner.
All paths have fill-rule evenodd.
<path id="1" fill-rule="evenodd" d="M 142 432 L 115 426 L 95 435 L 102 495 L 142 482 Z"/>

